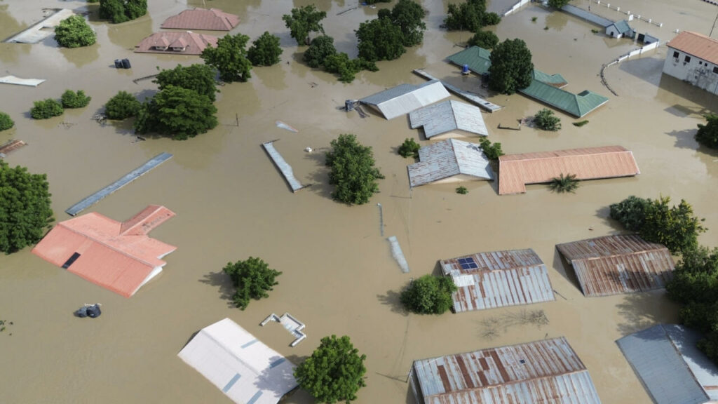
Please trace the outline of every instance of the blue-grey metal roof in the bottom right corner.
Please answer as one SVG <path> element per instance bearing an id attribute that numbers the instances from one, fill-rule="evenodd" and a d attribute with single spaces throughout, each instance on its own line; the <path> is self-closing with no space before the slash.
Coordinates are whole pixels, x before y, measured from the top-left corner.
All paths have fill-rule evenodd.
<path id="1" fill-rule="evenodd" d="M 616 341 L 656 404 L 718 400 L 718 367 L 696 348 L 696 331 L 658 324 Z"/>

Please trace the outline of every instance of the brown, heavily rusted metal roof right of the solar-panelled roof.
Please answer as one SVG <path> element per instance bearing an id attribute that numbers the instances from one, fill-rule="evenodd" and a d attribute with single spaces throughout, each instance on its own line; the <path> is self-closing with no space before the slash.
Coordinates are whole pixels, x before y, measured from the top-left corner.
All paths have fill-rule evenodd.
<path id="1" fill-rule="evenodd" d="M 587 296 L 661 289 L 673 277 L 668 249 L 635 234 L 557 244 L 556 249 L 571 262 Z"/>

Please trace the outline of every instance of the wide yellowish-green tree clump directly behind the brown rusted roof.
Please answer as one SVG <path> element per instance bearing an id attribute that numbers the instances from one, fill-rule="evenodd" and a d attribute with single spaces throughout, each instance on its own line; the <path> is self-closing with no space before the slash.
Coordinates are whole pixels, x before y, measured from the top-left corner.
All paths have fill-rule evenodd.
<path id="1" fill-rule="evenodd" d="M 648 242 L 663 244 L 673 254 L 698 247 L 698 234 L 707 229 L 703 219 L 693 216 L 693 207 L 684 200 L 669 206 L 671 198 L 643 199 L 630 196 L 610 206 L 610 216 L 626 229 L 636 231 Z"/>

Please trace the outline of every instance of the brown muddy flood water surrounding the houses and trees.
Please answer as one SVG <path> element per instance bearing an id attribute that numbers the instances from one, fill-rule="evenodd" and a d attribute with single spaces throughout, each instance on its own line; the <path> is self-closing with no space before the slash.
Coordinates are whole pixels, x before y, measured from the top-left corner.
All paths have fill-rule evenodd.
<path id="1" fill-rule="evenodd" d="M 85 213 L 98 211 L 125 220 L 150 203 L 177 213 L 151 233 L 177 250 L 165 257 L 162 275 L 132 298 L 65 272 L 29 248 L 0 256 L 0 319 L 14 323 L 0 333 L 0 402 L 228 403 L 220 390 L 177 357 L 195 332 L 225 317 L 294 363 L 311 354 L 322 336 L 350 336 L 367 355 L 367 386 L 359 392 L 360 404 L 413 402 L 406 376 L 415 359 L 557 336 L 567 337 L 589 369 L 603 403 L 651 402 L 615 340 L 655 323 L 677 321 L 677 307 L 663 291 L 586 298 L 554 246 L 622 231 L 607 219 L 607 206 L 630 195 L 686 199 L 710 229 L 701 235 L 701 243 L 718 245 L 718 153 L 693 139 L 701 114 L 715 111 L 717 100 L 661 75 L 664 45 L 606 69 L 607 81 L 618 94 L 614 96 L 600 82 L 600 68 L 635 49 L 634 42 L 593 34 L 592 24 L 541 6 L 529 5 L 505 17 L 491 28 L 500 40 L 525 40 L 536 68 L 561 73 L 569 81 L 568 91 L 589 89 L 610 101 L 586 116 L 589 124 L 584 127 L 574 127 L 571 116 L 557 112 L 560 132 L 528 127 L 518 132 L 496 128 L 516 126 L 518 119 L 543 106 L 518 94 L 489 94 L 490 101 L 504 106 L 484 114 L 490 139 L 507 153 L 620 144 L 633 150 L 640 175 L 584 182 L 569 195 L 530 185 L 525 194 L 498 196 L 497 183 L 490 182 L 464 183 L 470 191 L 466 196 L 455 193 L 457 185 L 452 184 L 410 192 L 406 165 L 411 161 L 398 156 L 396 147 L 407 137 L 429 142 L 410 129 L 404 117 L 387 121 L 373 114 L 362 119 L 337 106 L 401 83 L 423 83 L 411 73 L 415 68 L 485 93 L 477 78 L 462 77 L 444 61 L 461 50 L 454 44 L 470 35 L 439 28 L 448 1 L 421 1 L 428 12 L 423 45 L 398 60 L 378 63 L 380 71 L 360 73 L 351 84 L 307 68 L 302 62 L 305 48 L 289 37 L 281 15 L 317 4 L 327 12 L 324 27 L 337 49 L 354 57 L 353 29 L 392 4 L 337 15 L 356 1 L 149 3 L 145 17 L 115 25 L 98 21 L 97 6 L 83 1 L 0 1 L 1 38 L 42 19 L 44 8 L 90 12 L 90 24 L 98 33 L 97 44 L 74 50 L 58 49 L 52 38 L 36 45 L 0 43 L 3 75 L 47 79 L 37 88 L 0 85 L 0 110 L 16 121 L 16 128 L 0 133 L 0 144 L 8 139 L 28 144 L 6 161 L 47 173 L 55 218 L 66 220 L 70 216 L 64 211 L 73 203 L 159 152 L 169 152 L 172 160 Z M 588 5 L 587 0 L 574 3 Z M 500 12 L 511 4 L 495 1 L 490 8 Z M 248 83 L 221 87 L 216 102 L 220 125 L 194 139 L 148 137 L 137 142 L 129 122 L 102 126 L 93 121 L 117 91 L 141 98 L 157 91 L 151 81 L 133 79 L 155 74 L 157 67 L 202 63 L 194 56 L 132 52 L 142 38 L 159 31 L 164 19 L 187 6 L 202 5 L 238 14 L 241 24 L 232 33 L 242 32 L 251 40 L 264 31 L 278 35 L 284 49 L 281 63 L 254 68 Z M 718 12 L 718 7 L 699 0 L 617 0 L 613 6 L 662 22 L 663 27 L 632 23 L 638 32 L 649 32 L 662 42 L 671 40 L 675 29 L 707 34 Z M 595 3 L 592 9 L 597 9 Z M 595 11 L 625 18 L 607 9 Z M 114 69 L 117 58 L 129 58 L 132 68 Z M 90 105 L 54 119 L 29 118 L 32 101 L 60 98 L 67 88 L 83 89 L 93 97 Z M 276 127 L 278 120 L 299 132 Z M 379 183 L 381 193 L 363 206 L 345 206 L 330 198 L 321 149 L 342 133 L 354 133 L 373 147 L 386 175 Z M 289 190 L 261 148 L 273 139 L 279 139 L 275 146 L 297 178 L 311 187 Z M 318 151 L 307 153 L 305 147 Z M 377 203 L 383 206 L 384 237 Z M 411 268 L 408 274 L 391 257 L 389 236 L 398 238 Z M 556 301 L 442 316 L 407 315 L 398 304 L 401 288 L 411 277 L 437 272 L 437 260 L 524 248 L 534 249 L 546 262 Z M 240 311 L 230 304 L 233 290 L 221 269 L 249 256 L 263 258 L 283 274 L 269 298 L 253 300 Z M 73 317 L 78 306 L 96 302 L 103 304 L 100 318 Z M 521 321 L 523 313 L 533 310 L 544 311 L 549 323 Z M 258 326 L 269 313 L 287 311 L 307 324 L 308 338 L 294 348 L 289 347 L 292 336 L 280 326 Z M 302 391 L 286 400 L 312 402 Z"/>

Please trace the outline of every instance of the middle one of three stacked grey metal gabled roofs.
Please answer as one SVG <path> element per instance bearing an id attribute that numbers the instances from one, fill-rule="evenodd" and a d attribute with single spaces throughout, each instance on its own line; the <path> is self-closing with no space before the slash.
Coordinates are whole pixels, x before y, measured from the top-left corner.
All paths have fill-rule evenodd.
<path id="1" fill-rule="evenodd" d="M 442 101 L 411 111 L 409 121 L 411 121 L 411 129 L 424 127 L 426 139 L 454 130 L 480 136 L 489 134 L 484 117 L 481 116 L 481 110 L 477 106 L 454 100 Z"/>

